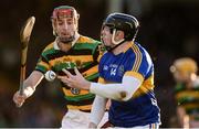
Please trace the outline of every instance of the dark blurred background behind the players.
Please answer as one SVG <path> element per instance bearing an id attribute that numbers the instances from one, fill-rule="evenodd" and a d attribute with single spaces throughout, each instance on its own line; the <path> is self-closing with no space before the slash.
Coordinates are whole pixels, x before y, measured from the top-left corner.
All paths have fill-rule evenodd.
<path id="1" fill-rule="evenodd" d="M 101 25 L 111 12 L 135 15 L 140 22 L 137 42 L 155 63 L 155 93 L 161 109 L 161 127 L 178 127 L 174 79 L 169 66 L 177 57 L 199 61 L 198 0 L 1 0 L 0 4 L 0 127 L 61 127 L 65 103 L 61 87 L 43 80 L 21 108 L 12 96 L 19 88 L 20 39 L 24 21 L 35 15 L 27 76 L 41 51 L 54 40 L 50 17 L 57 6 L 73 6 L 80 13 L 80 33 L 100 40 Z"/>

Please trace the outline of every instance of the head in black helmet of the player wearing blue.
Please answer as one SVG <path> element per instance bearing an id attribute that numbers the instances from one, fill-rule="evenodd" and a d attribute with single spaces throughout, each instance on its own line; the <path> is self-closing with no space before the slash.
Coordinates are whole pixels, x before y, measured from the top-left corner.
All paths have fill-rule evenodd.
<path id="1" fill-rule="evenodd" d="M 107 29 L 108 28 L 108 29 Z M 109 14 L 102 25 L 101 40 L 106 46 L 107 51 L 112 51 L 125 41 L 134 41 L 139 28 L 139 23 L 136 18 L 124 13 Z M 107 42 L 106 31 L 112 34 L 111 43 Z M 118 37 L 118 33 L 123 32 L 123 37 Z"/>

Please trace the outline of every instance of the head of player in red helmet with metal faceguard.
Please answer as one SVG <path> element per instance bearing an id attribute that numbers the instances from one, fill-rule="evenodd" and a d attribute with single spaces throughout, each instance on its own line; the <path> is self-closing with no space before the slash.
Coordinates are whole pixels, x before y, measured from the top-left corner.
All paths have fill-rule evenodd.
<path id="1" fill-rule="evenodd" d="M 78 14 L 69 6 L 55 8 L 52 13 L 53 33 L 59 41 L 71 43 L 75 40 L 78 28 Z"/>

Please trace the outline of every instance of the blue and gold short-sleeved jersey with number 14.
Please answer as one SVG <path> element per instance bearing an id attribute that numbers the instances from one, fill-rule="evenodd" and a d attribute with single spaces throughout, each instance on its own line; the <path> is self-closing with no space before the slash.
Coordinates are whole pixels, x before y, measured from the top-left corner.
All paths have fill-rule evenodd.
<path id="1" fill-rule="evenodd" d="M 149 54 L 138 43 L 114 55 L 106 52 L 101 58 L 101 83 L 122 83 L 123 76 L 143 79 L 142 86 L 128 101 L 112 100 L 109 121 L 116 127 L 135 127 L 160 123 L 159 108 L 154 94 L 154 64 Z"/>

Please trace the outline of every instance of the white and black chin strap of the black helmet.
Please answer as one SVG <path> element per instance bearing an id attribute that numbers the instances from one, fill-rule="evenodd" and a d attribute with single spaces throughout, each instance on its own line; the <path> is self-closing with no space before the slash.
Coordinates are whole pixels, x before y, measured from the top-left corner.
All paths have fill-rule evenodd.
<path id="1" fill-rule="evenodd" d="M 113 35 L 112 35 L 112 43 L 115 44 L 115 46 L 111 47 L 111 46 L 105 45 L 105 47 L 108 52 L 112 52 L 114 49 L 116 49 L 117 46 L 119 46 L 122 43 L 125 42 L 125 39 L 122 39 L 119 41 L 115 41 L 115 33 L 116 33 L 116 29 L 113 30 Z"/>

